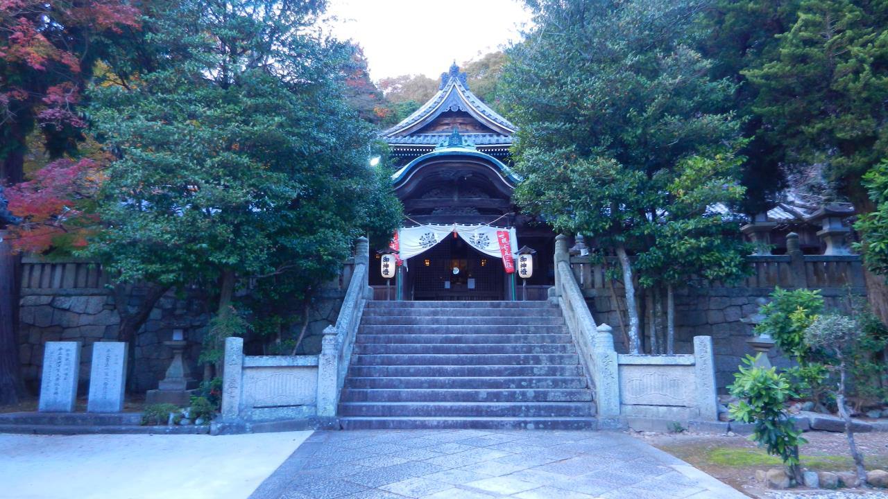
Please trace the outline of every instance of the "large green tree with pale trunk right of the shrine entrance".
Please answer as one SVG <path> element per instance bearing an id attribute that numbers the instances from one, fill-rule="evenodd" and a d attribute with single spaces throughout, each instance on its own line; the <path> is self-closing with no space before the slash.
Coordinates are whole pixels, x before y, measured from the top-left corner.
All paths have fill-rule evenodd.
<path id="1" fill-rule="evenodd" d="M 614 252 L 629 347 L 638 352 L 630 254 L 703 235 L 699 227 L 672 224 L 680 235 L 670 240 L 659 234 L 658 240 L 658 226 L 674 219 L 666 210 L 684 202 L 670 186 L 688 169 L 702 168 L 702 180 L 725 180 L 721 195 L 707 195 L 705 202 L 735 201 L 731 169 L 711 170 L 718 154 L 730 156 L 736 148 L 738 123 L 727 108 L 733 85 L 711 78 L 710 61 L 693 49 L 702 2 L 528 5 L 535 28 L 509 51 L 503 74 L 503 99 L 519 127 L 513 153 L 524 180 L 516 198 L 557 230 L 590 235 Z M 706 205 L 693 212 L 705 214 Z M 727 254 L 738 249 L 725 245 Z M 713 262 L 699 263 L 696 271 L 703 273 Z"/>

